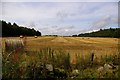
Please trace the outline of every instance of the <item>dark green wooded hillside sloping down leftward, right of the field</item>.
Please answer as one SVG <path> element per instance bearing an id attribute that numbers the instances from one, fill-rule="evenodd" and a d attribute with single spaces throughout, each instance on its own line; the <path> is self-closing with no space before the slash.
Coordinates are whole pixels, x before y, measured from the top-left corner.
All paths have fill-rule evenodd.
<path id="1" fill-rule="evenodd" d="M 100 29 L 96 32 L 73 35 L 79 37 L 113 37 L 120 38 L 120 28 Z"/>

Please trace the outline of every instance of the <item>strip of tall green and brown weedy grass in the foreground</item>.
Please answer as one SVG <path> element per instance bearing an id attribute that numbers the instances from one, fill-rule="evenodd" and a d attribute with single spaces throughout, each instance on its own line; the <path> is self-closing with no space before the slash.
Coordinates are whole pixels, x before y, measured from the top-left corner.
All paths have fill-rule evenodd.
<path id="1" fill-rule="evenodd" d="M 81 79 L 81 78 L 118 78 L 118 55 L 110 55 L 97 60 L 94 53 L 71 56 L 62 50 L 45 48 L 34 52 L 17 52 L 18 56 L 3 53 L 3 78 L 36 79 Z M 94 55 L 94 56 L 93 56 Z M 71 57 L 74 57 L 71 60 Z M 100 64 L 99 64 L 100 63 Z M 102 63 L 102 64 L 101 64 Z M 111 63 L 117 68 L 100 75 L 99 66 Z M 19 73 L 19 74 L 18 74 Z"/>

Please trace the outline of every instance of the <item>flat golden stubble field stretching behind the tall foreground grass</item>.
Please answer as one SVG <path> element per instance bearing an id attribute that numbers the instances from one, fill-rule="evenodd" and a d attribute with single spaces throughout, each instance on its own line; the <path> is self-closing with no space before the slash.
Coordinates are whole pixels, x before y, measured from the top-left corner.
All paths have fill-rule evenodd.
<path id="1" fill-rule="evenodd" d="M 2 38 L 2 47 L 5 48 L 5 39 L 20 39 L 19 37 Z M 52 48 L 54 50 L 64 50 L 71 55 L 74 53 L 87 55 L 94 53 L 97 56 L 117 54 L 117 38 L 99 38 L 99 37 L 49 37 L 42 36 L 38 38 L 26 38 L 27 51 L 39 51 L 43 48 Z"/>

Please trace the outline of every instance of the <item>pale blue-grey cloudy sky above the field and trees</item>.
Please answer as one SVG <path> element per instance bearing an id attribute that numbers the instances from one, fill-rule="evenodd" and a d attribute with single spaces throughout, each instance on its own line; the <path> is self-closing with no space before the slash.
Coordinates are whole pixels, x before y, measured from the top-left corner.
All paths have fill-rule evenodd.
<path id="1" fill-rule="evenodd" d="M 42 35 L 74 35 L 118 27 L 118 0 L 4 0 L 2 20 L 35 28 Z"/>

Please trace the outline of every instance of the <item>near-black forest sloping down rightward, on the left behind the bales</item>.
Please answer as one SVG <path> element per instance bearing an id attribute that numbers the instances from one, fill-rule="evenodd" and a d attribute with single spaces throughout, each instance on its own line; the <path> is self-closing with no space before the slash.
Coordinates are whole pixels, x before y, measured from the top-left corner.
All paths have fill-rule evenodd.
<path id="1" fill-rule="evenodd" d="M 17 37 L 20 35 L 23 36 L 41 36 L 41 32 L 36 31 L 35 29 L 30 29 L 26 27 L 18 26 L 16 23 L 11 24 L 10 22 L 1 21 L 2 23 L 2 36 L 3 37 Z"/>

